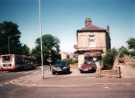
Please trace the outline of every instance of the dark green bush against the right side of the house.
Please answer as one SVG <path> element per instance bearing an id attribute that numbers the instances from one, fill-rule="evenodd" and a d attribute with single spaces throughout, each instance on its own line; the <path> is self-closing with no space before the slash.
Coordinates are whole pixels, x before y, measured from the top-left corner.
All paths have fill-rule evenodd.
<path id="1" fill-rule="evenodd" d="M 106 52 L 106 54 L 102 58 L 103 62 L 103 69 L 112 68 L 115 57 L 117 56 L 118 52 L 116 49 L 110 49 Z"/>

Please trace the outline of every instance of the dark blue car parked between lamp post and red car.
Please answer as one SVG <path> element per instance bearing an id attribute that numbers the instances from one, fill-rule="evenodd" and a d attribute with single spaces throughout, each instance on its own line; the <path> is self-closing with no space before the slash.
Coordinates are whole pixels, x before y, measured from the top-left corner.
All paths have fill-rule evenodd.
<path id="1" fill-rule="evenodd" d="M 66 61 L 57 61 L 52 65 L 52 74 L 70 73 L 70 67 Z"/>

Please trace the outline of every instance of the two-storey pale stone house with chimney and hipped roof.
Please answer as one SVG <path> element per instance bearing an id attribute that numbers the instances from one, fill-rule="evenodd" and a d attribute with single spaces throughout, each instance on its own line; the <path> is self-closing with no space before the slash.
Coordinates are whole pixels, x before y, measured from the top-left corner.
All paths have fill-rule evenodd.
<path id="1" fill-rule="evenodd" d="M 74 46 L 78 54 L 78 66 L 87 61 L 95 61 L 100 65 L 104 53 L 111 48 L 109 26 L 106 29 L 93 24 L 91 18 L 85 19 L 85 26 L 76 32 L 77 44 Z"/>

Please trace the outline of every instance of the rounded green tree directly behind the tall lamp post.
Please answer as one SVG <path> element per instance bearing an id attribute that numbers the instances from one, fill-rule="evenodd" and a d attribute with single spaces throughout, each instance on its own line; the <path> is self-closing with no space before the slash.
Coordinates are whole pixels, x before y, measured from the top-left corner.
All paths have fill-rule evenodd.
<path id="1" fill-rule="evenodd" d="M 42 40 L 44 64 L 48 63 L 48 58 L 51 58 L 52 62 L 60 58 L 59 39 L 53 35 L 46 34 L 42 36 Z M 40 38 L 36 39 L 36 47 L 32 50 L 32 55 L 36 57 L 38 63 L 41 62 Z"/>

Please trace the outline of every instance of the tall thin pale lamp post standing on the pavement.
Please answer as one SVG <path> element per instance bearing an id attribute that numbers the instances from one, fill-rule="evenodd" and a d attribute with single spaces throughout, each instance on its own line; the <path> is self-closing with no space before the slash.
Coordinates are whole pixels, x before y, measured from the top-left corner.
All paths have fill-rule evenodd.
<path id="1" fill-rule="evenodd" d="M 38 15 L 39 15 L 39 31 L 40 31 L 40 48 L 41 48 L 41 71 L 42 71 L 42 79 L 44 79 L 44 65 L 43 65 L 43 42 L 42 42 L 42 24 L 41 24 L 41 0 L 38 0 Z"/>

